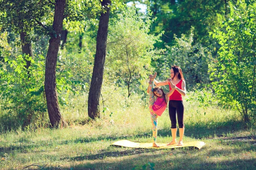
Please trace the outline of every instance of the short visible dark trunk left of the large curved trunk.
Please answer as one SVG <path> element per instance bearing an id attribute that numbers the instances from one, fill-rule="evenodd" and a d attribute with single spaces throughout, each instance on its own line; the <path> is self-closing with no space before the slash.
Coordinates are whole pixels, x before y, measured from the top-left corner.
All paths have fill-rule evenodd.
<path id="1" fill-rule="evenodd" d="M 26 32 L 20 32 L 20 42 L 21 42 L 21 48 L 22 48 L 22 54 L 26 54 L 29 55 L 30 57 L 33 57 L 33 52 L 32 52 L 32 46 L 31 46 L 31 42 L 28 42 L 28 40 L 26 40 L 27 34 Z M 26 60 L 26 69 L 29 68 L 29 66 L 31 65 L 31 61 Z M 29 72 L 28 72 L 29 74 Z"/>

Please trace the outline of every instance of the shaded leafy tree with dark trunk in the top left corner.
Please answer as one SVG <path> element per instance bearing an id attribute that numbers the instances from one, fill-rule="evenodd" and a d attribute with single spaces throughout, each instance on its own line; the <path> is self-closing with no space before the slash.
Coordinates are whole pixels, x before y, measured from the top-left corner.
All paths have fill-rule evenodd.
<path id="1" fill-rule="evenodd" d="M 0 0 L 0 13 L 2 13 L 0 14 L 0 31 L 9 29 L 20 34 L 20 44 L 27 69 L 31 62 L 25 56 L 33 57 L 30 32 L 31 30 L 35 31 L 35 25 L 37 25 L 35 18 L 41 20 L 45 12 L 38 8 L 46 8 L 46 4 L 31 0 Z"/>

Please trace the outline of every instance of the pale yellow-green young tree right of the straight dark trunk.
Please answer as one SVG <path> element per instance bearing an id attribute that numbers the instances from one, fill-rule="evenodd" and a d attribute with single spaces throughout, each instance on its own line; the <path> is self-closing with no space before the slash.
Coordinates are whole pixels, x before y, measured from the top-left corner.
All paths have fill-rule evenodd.
<path id="1" fill-rule="evenodd" d="M 140 17 L 134 8 L 118 14 L 109 26 L 106 70 L 109 78 L 126 85 L 128 96 L 138 88 L 140 81 L 152 73 L 151 59 L 162 50 L 154 49 L 162 34 L 148 34 L 151 14 Z"/>

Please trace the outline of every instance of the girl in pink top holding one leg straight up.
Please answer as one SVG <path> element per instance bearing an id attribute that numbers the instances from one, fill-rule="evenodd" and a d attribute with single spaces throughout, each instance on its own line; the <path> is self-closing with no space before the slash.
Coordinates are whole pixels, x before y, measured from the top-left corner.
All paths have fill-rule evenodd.
<path id="1" fill-rule="evenodd" d="M 165 111 L 167 103 L 169 101 L 169 96 L 175 91 L 172 89 L 167 94 L 163 92 L 160 87 L 153 87 L 154 78 L 157 76 L 157 72 L 153 76 L 150 75 L 150 81 L 148 82 L 147 93 L 149 94 L 149 111 L 151 115 L 152 130 L 153 130 L 153 147 L 159 147 L 157 142 L 157 118 L 161 116 Z M 169 79 L 171 81 L 171 79 Z M 156 99 L 155 99 L 156 97 Z"/>

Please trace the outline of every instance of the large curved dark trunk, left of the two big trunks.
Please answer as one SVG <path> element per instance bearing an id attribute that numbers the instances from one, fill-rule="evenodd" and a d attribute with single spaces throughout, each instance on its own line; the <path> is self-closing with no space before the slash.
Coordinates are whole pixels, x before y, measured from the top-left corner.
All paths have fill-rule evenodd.
<path id="1" fill-rule="evenodd" d="M 45 81 L 44 90 L 47 102 L 47 109 L 49 119 L 52 127 L 58 127 L 60 124 L 66 126 L 67 123 L 61 116 L 61 111 L 58 106 L 58 95 L 56 91 L 56 63 L 58 57 L 58 50 L 61 43 L 61 31 L 64 19 L 64 9 L 66 0 L 56 0 L 55 13 L 53 20 L 53 30 L 51 38 L 49 40 L 49 48 L 46 56 L 45 65 Z"/>

